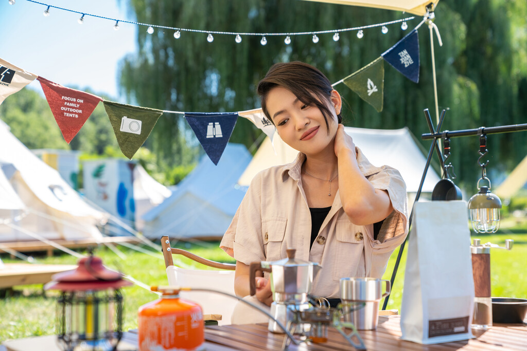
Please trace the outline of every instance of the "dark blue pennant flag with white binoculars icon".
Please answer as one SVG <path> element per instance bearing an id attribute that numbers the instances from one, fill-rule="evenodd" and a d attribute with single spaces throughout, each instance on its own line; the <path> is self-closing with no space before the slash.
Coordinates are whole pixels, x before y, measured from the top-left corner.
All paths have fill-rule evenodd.
<path id="1" fill-rule="evenodd" d="M 220 161 L 236 125 L 238 113 L 185 113 L 188 124 L 215 165 Z"/>

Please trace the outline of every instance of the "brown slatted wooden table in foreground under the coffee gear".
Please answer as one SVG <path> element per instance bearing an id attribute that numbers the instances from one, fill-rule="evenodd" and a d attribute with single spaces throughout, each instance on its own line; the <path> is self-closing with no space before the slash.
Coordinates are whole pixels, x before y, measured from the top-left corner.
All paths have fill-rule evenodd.
<path id="1" fill-rule="evenodd" d="M 496 324 L 485 332 L 473 330 L 475 339 L 464 340 L 455 343 L 421 345 L 401 340 L 400 316 L 379 317 L 376 330 L 359 330 L 368 350 L 527 350 L 527 324 Z M 33 351 L 38 338 L 32 339 L 32 343 L 23 340 L 11 340 L 5 342 L 7 351 Z M 49 338 L 49 337 L 47 337 Z M 205 328 L 205 349 L 207 351 L 258 351 L 258 350 L 280 350 L 283 334 L 273 334 L 267 331 L 267 324 L 226 325 L 207 326 Z M 122 346 L 137 345 L 137 334 L 134 331 L 125 333 Z M 121 346 L 121 344 L 119 345 Z M 134 347 L 120 349 L 135 350 Z M 58 349 L 57 349 L 58 350 Z M 346 339 L 334 328 L 328 329 L 328 342 L 324 344 L 300 343 L 299 346 L 289 345 L 289 350 L 353 350 Z M 53 349 L 46 349 L 53 351 Z"/>

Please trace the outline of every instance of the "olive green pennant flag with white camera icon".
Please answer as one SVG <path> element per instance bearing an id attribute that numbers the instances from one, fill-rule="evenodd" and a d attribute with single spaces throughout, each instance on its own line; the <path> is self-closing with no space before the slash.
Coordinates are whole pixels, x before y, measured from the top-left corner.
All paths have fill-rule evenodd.
<path id="1" fill-rule="evenodd" d="M 103 103 L 121 152 L 124 156 L 132 159 L 133 155 L 147 140 L 163 111 L 110 101 Z"/>

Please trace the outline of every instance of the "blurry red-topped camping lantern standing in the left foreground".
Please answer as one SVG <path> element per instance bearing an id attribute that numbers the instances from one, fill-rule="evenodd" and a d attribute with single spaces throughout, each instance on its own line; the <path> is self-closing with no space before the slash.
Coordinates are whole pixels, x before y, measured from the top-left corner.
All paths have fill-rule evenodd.
<path id="1" fill-rule="evenodd" d="M 60 290 L 56 333 L 64 351 L 106 351 L 122 337 L 123 296 L 132 283 L 103 266 L 99 257 L 81 258 L 76 269 L 57 273 L 44 289 Z"/>

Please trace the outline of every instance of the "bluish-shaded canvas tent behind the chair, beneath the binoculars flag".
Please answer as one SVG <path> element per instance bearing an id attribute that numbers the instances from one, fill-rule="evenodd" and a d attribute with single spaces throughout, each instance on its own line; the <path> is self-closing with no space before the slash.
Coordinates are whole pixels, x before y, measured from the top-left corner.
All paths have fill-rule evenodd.
<path id="1" fill-rule="evenodd" d="M 240 144 L 227 144 L 218 165 L 203 155 L 172 195 L 143 216 L 144 236 L 221 237 L 245 195 L 237 180 L 250 161 L 251 154 Z"/>

